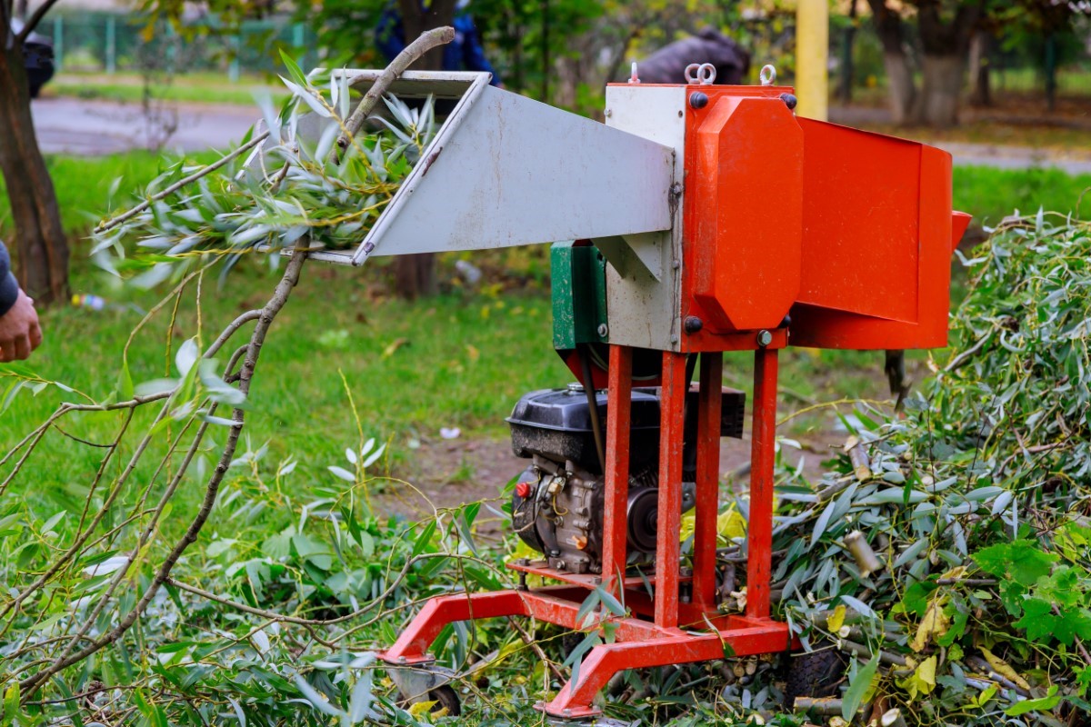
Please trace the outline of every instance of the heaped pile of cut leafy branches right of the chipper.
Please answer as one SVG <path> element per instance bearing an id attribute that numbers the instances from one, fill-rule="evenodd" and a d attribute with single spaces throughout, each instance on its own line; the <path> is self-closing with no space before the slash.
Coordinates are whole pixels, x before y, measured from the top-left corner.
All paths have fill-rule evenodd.
<path id="1" fill-rule="evenodd" d="M 1040 213 L 975 252 L 907 416 L 861 416 L 854 457 L 780 493 L 774 590 L 850 655 L 835 711 L 861 724 L 1091 714 L 1091 225 Z"/>

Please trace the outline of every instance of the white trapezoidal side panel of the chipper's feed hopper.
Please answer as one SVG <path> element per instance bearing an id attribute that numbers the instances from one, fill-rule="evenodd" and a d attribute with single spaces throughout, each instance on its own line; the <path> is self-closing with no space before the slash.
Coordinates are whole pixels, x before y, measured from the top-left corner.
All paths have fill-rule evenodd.
<path id="1" fill-rule="evenodd" d="M 671 227 L 669 147 L 491 86 L 464 98 L 375 222 L 370 255 Z"/>

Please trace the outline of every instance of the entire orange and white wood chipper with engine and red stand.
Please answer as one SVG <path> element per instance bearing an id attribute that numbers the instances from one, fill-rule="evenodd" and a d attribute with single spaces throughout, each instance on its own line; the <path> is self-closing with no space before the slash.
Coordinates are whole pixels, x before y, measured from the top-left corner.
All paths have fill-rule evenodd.
<path id="1" fill-rule="evenodd" d="M 358 90 L 377 71 L 345 70 Z M 369 257 L 558 243 L 553 344 L 576 383 L 536 391 L 508 422 L 530 460 L 513 525 L 540 554 L 520 585 L 428 601 L 380 654 L 403 691 L 442 683 L 429 647 L 455 621 L 532 617 L 580 628 L 589 590 L 612 592 L 612 643 L 540 708 L 599 714 L 623 669 L 784 652 L 770 618 L 778 353 L 787 346 L 913 349 L 947 342 L 951 158 L 793 113 L 792 89 L 611 84 L 604 123 L 488 85 L 488 74 L 407 72 L 401 98 L 454 102 L 355 251 Z M 682 80 L 680 80 L 682 81 Z M 745 611 L 718 608 L 720 438 L 742 436 L 723 354 L 753 358 Z M 692 380 L 692 379 L 696 380 Z M 694 510 L 692 553 L 680 524 Z M 526 575 L 551 583 L 527 587 Z"/>

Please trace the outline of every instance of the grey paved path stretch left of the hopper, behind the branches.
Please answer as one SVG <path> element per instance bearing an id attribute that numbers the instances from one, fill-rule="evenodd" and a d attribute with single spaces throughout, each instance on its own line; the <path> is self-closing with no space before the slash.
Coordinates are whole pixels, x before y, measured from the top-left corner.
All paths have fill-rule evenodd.
<path id="1" fill-rule="evenodd" d="M 178 104 L 172 107 L 178 128 L 165 148 L 183 152 L 226 147 L 238 142 L 261 117 L 256 106 Z M 161 123 L 149 122 L 139 104 L 41 98 L 33 101 L 32 111 L 38 142 L 47 154 L 97 156 L 147 148 L 149 136 L 163 133 Z"/>

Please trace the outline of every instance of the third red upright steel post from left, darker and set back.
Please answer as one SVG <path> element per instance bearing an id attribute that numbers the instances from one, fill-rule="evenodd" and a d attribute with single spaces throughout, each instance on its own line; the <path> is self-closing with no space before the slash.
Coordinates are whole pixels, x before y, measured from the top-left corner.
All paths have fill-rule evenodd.
<path id="1" fill-rule="evenodd" d="M 716 516 L 720 500 L 720 408 L 723 354 L 700 354 L 697 409 L 697 500 L 693 533 L 693 602 L 716 608 Z"/>

